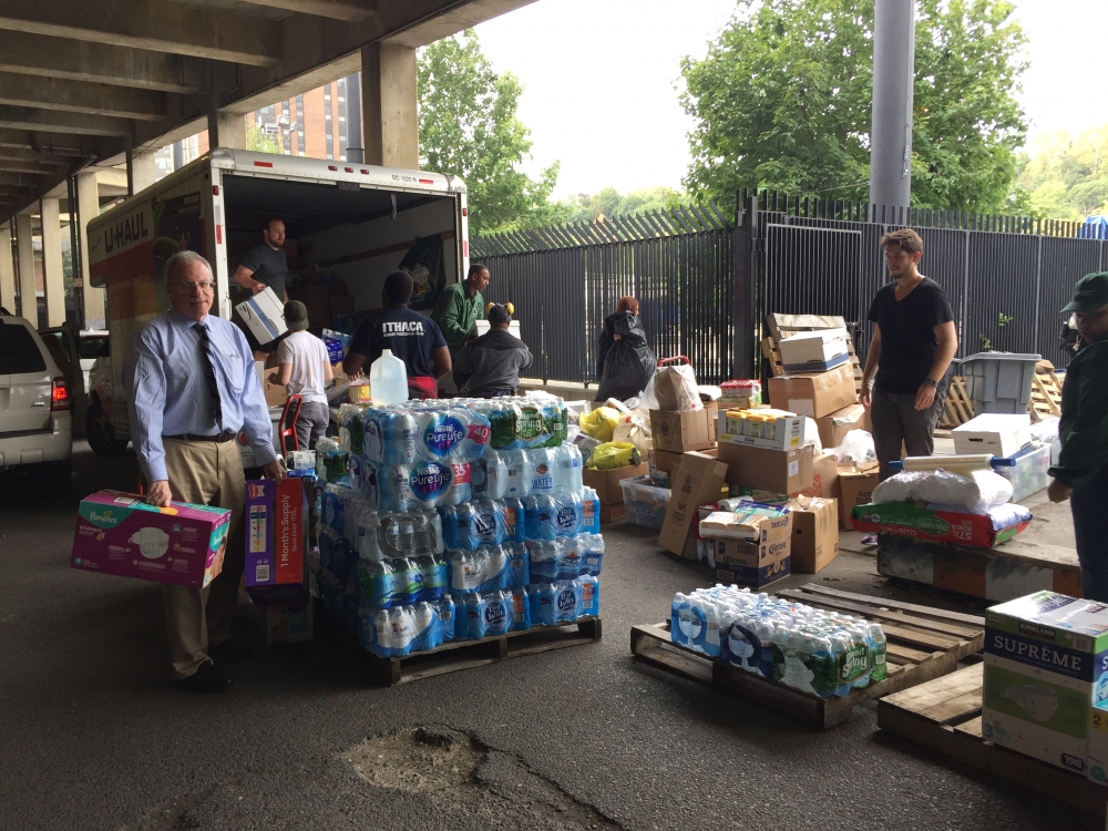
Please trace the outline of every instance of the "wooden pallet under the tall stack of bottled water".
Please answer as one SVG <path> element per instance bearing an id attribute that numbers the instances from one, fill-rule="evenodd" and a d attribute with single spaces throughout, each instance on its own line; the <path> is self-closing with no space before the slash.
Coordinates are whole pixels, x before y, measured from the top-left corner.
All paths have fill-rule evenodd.
<path id="1" fill-rule="evenodd" d="M 561 626 L 536 626 L 525 632 L 510 632 L 506 635 L 493 635 L 481 640 L 452 640 L 434 649 L 413 653 L 402 658 L 380 658 L 363 649 L 353 633 L 326 613 L 324 623 L 332 635 L 369 663 L 387 687 L 495 664 L 507 658 L 520 658 L 567 646 L 594 644 L 601 639 L 602 630 L 599 617 L 585 617 Z"/>

